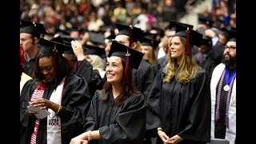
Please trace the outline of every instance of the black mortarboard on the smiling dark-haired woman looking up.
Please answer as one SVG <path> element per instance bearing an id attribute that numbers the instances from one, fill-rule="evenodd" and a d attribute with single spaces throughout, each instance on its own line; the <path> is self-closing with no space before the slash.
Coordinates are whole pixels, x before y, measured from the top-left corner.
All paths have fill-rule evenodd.
<path id="1" fill-rule="evenodd" d="M 122 45 L 117 41 L 113 41 L 110 47 L 110 53 L 108 54 L 108 57 L 117 56 L 126 59 L 126 56 L 129 56 L 130 66 L 134 69 L 138 69 L 138 66 L 142 61 L 143 55 L 144 54 L 138 50 L 130 48 L 129 46 Z"/>

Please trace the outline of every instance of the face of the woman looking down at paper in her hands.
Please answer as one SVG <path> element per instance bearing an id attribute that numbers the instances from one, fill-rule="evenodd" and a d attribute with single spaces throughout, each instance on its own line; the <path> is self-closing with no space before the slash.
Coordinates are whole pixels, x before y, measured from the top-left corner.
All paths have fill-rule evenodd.
<path id="1" fill-rule="evenodd" d="M 46 81 L 51 82 L 54 79 L 54 58 L 42 57 L 39 58 L 39 69 L 41 73 L 46 77 Z"/>

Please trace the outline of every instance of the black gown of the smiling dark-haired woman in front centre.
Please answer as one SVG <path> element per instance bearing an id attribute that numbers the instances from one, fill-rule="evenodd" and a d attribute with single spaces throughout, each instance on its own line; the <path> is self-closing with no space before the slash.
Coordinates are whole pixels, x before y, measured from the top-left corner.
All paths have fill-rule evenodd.
<path id="1" fill-rule="evenodd" d="M 139 144 L 146 130 L 146 100 L 141 93 L 133 94 L 120 106 L 114 103 L 110 94 L 107 102 L 102 102 L 102 90 L 95 93 L 86 116 L 85 130 L 99 130 L 100 140 L 90 143 Z"/>

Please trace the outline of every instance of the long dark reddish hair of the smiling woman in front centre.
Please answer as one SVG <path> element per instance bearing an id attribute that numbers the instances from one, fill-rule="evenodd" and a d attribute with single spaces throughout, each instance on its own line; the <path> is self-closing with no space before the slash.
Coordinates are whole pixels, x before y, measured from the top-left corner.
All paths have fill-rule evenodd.
<path id="1" fill-rule="evenodd" d="M 118 98 L 115 98 L 115 103 L 117 105 L 121 105 L 127 98 L 129 98 L 134 93 L 139 93 L 138 90 L 134 86 L 132 86 L 131 78 L 132 78 L 132 68 L 130 65 L 128 66 L 128 70 L 125 70 L 126 60 L 122 59 L 123 66 L 123 78 L 122 78 L 122 90 L 121 94 L 118 95 Z M 125 82 L 126 79 L 126 82 Z M 102 102 L 107 102 L 110 99 L 110 93 L 112 92 L 112 85 L 109 82 L 105 82 L 102 88 L 104 98 Z"/>

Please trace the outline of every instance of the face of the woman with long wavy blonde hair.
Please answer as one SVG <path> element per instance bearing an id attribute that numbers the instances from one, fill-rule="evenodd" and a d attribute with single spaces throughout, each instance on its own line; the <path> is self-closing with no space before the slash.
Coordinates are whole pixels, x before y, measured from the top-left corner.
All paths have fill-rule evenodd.
<path id="1" fill-rule="evenodd" d="M 182 58 L 182 54 L 185 51 L 185 46 L 179 37 L 173 37 L 170 41 L 170 57 L 171 58 Z"/>

